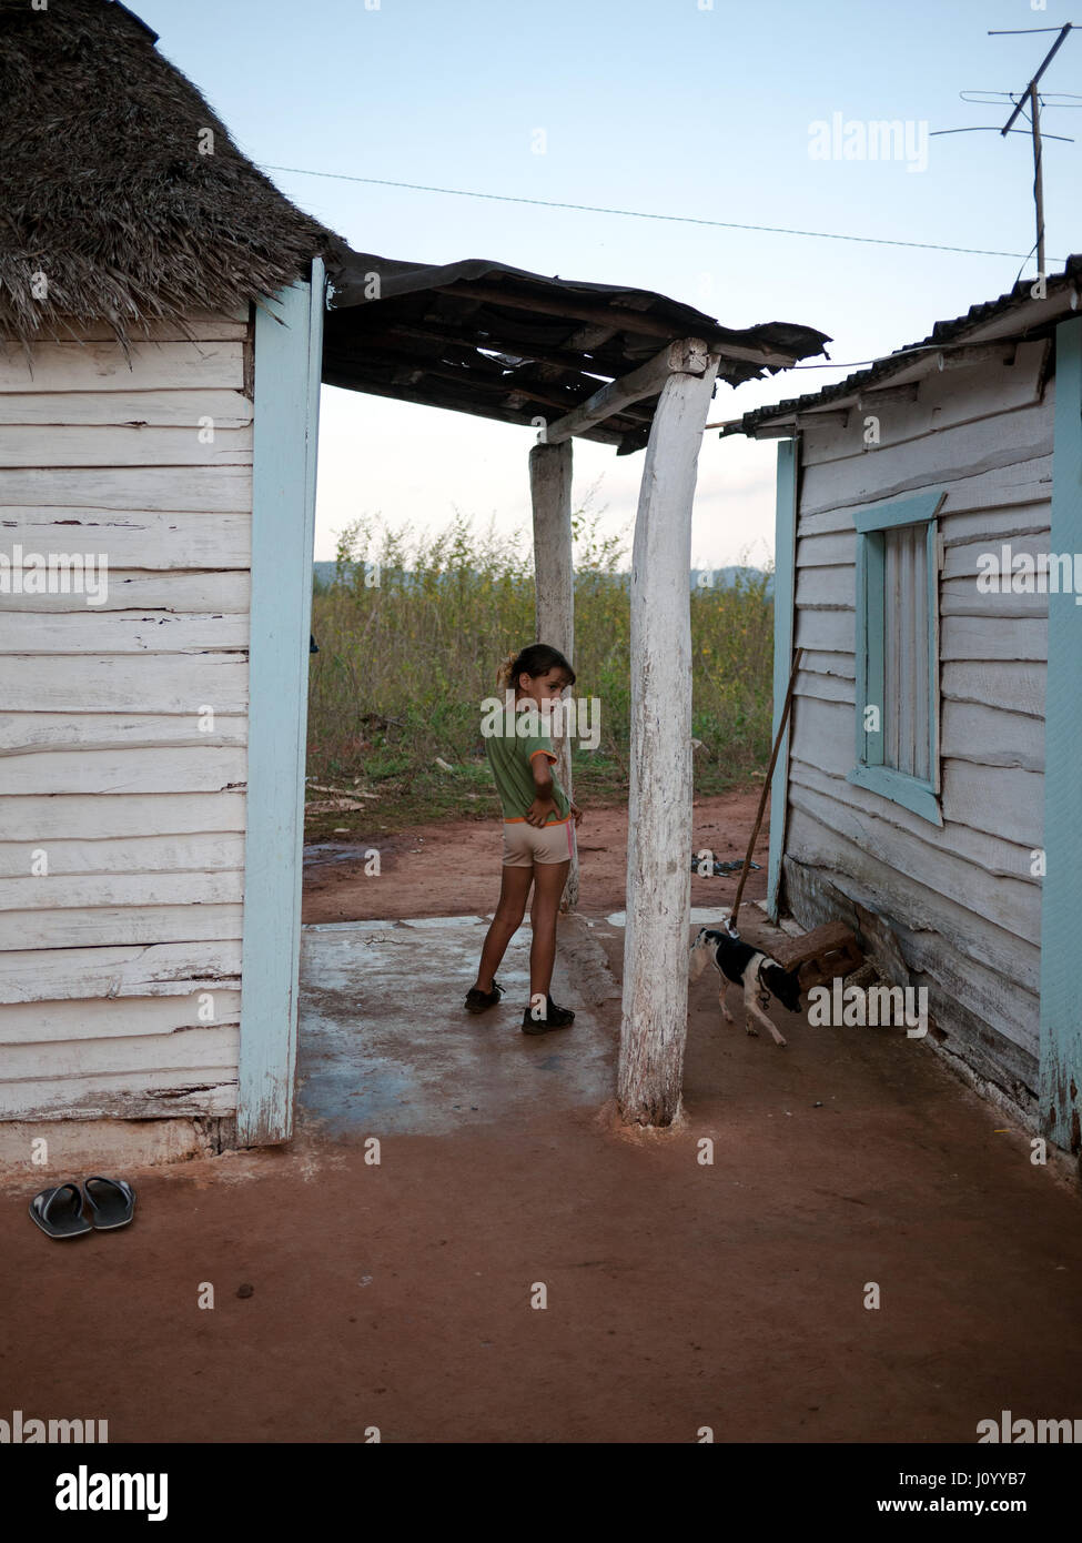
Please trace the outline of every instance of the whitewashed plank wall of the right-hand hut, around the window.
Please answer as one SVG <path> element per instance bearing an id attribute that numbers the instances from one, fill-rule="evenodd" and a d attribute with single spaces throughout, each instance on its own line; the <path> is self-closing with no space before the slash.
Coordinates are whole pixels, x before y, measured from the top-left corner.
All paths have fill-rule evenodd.
<path id="1" fill-rule="evenodd" d="M 804 429 L 786 875 L 804 924 L 817 887 L 886 918 L 948 1049 L 1030 1103 L 1039 1086 L 1046 596 L 979 594 L 975 559 L 1048 551 L 1054 381 L 1045 344 L 1013 366 L 946 370 L 917 401 Z M 943 829 L 846 781 L 854 756 L 854 511 L 945 488 Z M 827 907 L 829 909 L 829 907 Z M 977 1038 L 980 1045 L 977 1045 Z"/>

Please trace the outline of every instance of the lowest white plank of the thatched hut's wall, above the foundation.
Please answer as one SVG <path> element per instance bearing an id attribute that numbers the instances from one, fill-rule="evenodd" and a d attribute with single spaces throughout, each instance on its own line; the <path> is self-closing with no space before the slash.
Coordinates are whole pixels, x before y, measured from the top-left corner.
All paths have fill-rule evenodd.
<path id="1" fill-rule="evenodd" d="M 154 1120 L 233 1114 L 236 1072 L 230 1066 L 36 1077 L 0 1082 L 0 1119 Z"/>

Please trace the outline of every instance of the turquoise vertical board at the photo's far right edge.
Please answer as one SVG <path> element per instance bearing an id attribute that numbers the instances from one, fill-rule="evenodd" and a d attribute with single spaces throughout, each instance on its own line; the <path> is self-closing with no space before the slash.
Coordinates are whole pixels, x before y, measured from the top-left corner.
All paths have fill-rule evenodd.
<path id="1" fill-rule="evenodd" d="M 1051 552 L 1082 552 L 1082 316 L 1056 329 Z M 1074 563 L 1082 562 L 1074 557 Z M 1077 583 L 1077 566 L 1074 571 Z M 1045 880 L 1040 904 L 1040 1108 L 1045 1134 L 1082 1140 L 1082 605 L 1048 596 Z"/>

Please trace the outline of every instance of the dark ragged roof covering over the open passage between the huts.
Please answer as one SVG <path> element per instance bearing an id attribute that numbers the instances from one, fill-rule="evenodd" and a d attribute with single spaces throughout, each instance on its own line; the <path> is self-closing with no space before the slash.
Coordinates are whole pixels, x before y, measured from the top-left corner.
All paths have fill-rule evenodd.
<path id="1" fill-rule="evenodd" d="M 721 350 L 719 378 L 732 386 L 823 353 L 830 341 L 784 321 L 722 327 L 653 290 L 548 278 L 483 258 L 429 265 L 343 247 L 327 273 L 326 384 L 526 427 L 554 423 L 681 338 Z M 639 451 L 656 404 L 658 397 L 637 401 L 585 438 L 614 444 L 619 455 Z"/>

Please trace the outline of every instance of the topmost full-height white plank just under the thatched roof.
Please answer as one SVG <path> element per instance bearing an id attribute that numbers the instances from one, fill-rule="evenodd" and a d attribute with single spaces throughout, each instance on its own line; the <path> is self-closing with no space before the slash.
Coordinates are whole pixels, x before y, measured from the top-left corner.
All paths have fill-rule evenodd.
<path id="1" fill-rule="evenodd" d="M 22 349 L 0 349 L 0 392 L 244 389 L 244 341 L 136 343 L 125 358 L 119 343 L 40 343 L 32 361 Z"/>

